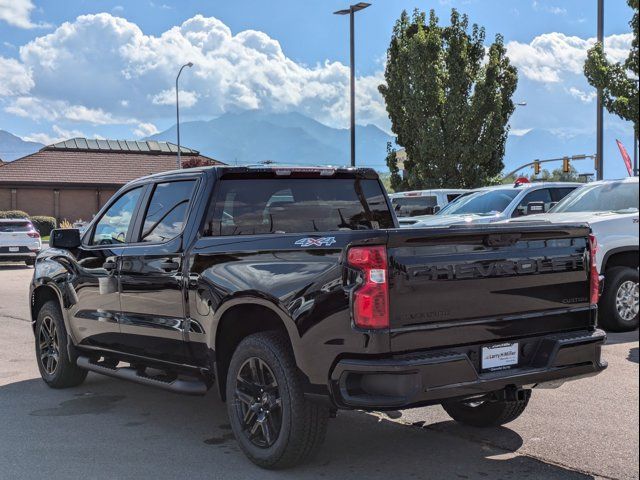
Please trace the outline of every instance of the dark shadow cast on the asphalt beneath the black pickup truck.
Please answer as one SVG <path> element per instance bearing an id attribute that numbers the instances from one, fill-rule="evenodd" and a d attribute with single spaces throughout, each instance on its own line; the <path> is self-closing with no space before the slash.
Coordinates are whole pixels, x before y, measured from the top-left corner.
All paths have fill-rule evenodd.
<path id="1" fill-rule="evenodd" d="M 184 397 L 94 374 L 67 390 L 40 379 L 0 386 L 0 412 L 4 478 L 593 478 L 514 455 L 523 440 L 508 428 L 362 412 L 339 412 L 311 463 L 264 471 L 240 451 L 215 392 Z"/>

